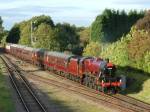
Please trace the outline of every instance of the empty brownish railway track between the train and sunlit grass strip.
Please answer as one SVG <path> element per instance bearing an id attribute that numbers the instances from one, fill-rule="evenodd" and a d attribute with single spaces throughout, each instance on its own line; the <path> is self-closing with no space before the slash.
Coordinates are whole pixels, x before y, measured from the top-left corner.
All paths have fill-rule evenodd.
<path id="1" fill-rule="evenodd" d="M 60 87 L 60 88 L 63 88 L 63 89 L 69 90 L 69 91 L 73 91 L 77 94 L 87 96 L 96 102 L 104 101 L 105 103 L 113 104 L 114 106 L 116 106 L 117 108 L 119 108 L 121 110 L 122 110 L 122 108 L 125 108 L 125 109 L 127 109 L 127 111 L 150 112 L 150 105 L 148 105 L 148 104 L 146 105 L 145 103 L 142 103 L 142 102 L 137 103 L 137 102 L 139 102 L 137 100 L 135 100 L 136 102 L 130 102 L 129 100 L 127 101 L 126 99 L 121 99 L 121 97 L 118 98 L 116 96 L 114 97 L 114 96 L 110 96 L 110 95 L 106 95 L 106 94 L 98 95 L 97 92 L 95 92 L 95 91 L 92 91 L 92 90 L 89 91 L 80 86 L 79 87 L 72 86 L 72 85 L 70 86 L 70 85 L 61 83 L 59 81 L 43 78 L 41 76 L 31 75 L 31 76 L 29 76 L 29 78 L 43 82 L 43 83 L 47 83 L 49 85 L 54 85 L 54 86 L 57 86 L 57 87 Z"/>

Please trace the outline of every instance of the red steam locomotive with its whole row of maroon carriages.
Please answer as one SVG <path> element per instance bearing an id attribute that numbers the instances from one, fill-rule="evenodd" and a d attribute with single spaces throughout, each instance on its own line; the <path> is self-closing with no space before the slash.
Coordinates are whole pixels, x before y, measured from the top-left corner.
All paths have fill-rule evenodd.
<path id="1" fill-rule="evenodd" d="M 108 59 L 68 55 L 17 44 L 7 44 L 5 50 L 15 57 L 98 91 L 116 93 L 121 89 L 121 78 L 115 76 L 115 65 Z"/>

